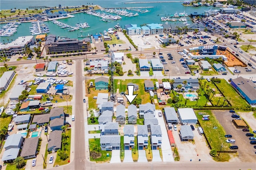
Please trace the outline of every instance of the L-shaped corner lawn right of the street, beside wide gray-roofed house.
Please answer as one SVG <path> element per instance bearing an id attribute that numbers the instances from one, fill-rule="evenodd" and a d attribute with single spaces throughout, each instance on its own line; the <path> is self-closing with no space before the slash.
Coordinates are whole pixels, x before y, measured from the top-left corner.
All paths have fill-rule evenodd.
<path id="1" fill-rule="evenodd" d="M 90 161 L 94 161 L 97 163 L 110 162 L 112 151 L 104 151 L 100 149 L 100 138 L 89 139 L 89 146 Z M 107 153 L 109 154 L 109 156 L 107 156 Z"/>

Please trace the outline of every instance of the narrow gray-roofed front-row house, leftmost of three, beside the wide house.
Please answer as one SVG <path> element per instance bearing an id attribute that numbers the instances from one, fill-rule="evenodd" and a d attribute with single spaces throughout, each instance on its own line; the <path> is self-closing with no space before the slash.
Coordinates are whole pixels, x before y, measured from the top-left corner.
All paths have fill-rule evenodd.
<path id="1" fill-rule="evenodd" d="M 134 148 L 134 126 L 124 126 L 124 150 L 130 150 Z"/>

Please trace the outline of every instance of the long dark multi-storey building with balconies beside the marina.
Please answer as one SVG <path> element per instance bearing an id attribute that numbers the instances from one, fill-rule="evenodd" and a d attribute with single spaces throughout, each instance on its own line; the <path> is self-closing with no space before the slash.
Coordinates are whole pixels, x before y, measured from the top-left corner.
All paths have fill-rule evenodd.
<path id="1" fill-rule="evenodd" d="M 49 41 L 48 41 L 49 38 Z M 45 50 L 46 54 L 58 53 L 61 54 L 62 52 L 73 52 L 73 51 L 91 51 L 91 40 L 90 38 L 84 38 L 82 40 L 78 39 L 56 39 L 56 35 L 50 35 L 47 37 L 45 42 Z"/>

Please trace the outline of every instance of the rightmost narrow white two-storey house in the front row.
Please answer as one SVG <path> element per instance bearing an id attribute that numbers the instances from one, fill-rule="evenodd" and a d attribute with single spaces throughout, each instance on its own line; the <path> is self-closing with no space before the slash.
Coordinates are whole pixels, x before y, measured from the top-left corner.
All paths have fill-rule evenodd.
<path id="1" fill-rule="evenodd" d="M 157 150 L 162 145 L 162 131 L 160 125 L 150 125 L 151 149 Z"/>

